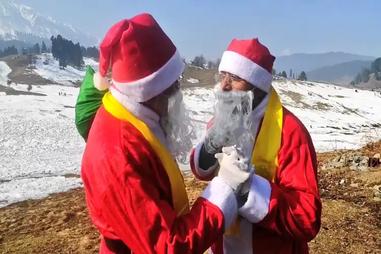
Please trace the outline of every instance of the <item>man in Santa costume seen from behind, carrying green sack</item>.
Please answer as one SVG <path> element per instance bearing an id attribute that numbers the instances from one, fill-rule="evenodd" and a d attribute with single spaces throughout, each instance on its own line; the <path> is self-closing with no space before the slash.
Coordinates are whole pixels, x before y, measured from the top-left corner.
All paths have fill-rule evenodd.
<path id="1" fill-rule="evenodd" d="M 219 173 L 189 210 L 174 160 L 185 162 L 194 136 L 177 81 L 183 69 L 149 14 L 115 24 L 100 45 L 93 81 L 109 92 L 88 134 L 81 177 L 101 253 L 203 253 L 237 217 L 236 194 L 252 170 L 235 150 L 216 155 Z"/>

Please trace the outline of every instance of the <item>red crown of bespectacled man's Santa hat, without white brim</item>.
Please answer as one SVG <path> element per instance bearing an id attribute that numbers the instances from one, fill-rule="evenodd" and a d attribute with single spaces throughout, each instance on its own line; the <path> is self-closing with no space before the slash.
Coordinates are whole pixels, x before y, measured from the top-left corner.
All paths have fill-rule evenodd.
<path id="1" fill-rule="evenodd" d="M 252 62 L 257 63 L 257 65 L 269 73 L 272 73 L 275 56 L 270 53 L 266 46 L 259 42 L 258 38 L 249 40 L 233 39 L 227 51 L 236 52 Z"/>

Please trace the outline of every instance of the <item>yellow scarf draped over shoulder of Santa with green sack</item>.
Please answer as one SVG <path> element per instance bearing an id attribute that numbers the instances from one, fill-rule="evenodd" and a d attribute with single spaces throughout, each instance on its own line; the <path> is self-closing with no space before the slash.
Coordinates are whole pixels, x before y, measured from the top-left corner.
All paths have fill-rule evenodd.
<path id="1" fill-rule="evenodd" d="M 105 109 L 117 119 L 130 122 L 148 141 L 157 156 L 160 158 L 169 181 L 171 182 L 173 208 L 177 212 L 177 216 L 189 212 L 189 200 L 186 195 L 184 179 L 182 178 L 180 169 L 173 160 L 172 155 L 167 151 L 164 145 L 153 135 L 147 125 L 136 118 L 128 110 L 126 110 L 110 92 L 107 92 L 103 97 L 103 105 Z"/>

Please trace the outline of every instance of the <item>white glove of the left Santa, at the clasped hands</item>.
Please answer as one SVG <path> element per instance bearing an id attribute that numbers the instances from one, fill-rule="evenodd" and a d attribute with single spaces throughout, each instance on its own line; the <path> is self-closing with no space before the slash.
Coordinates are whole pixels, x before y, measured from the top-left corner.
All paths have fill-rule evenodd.
<path id="1" fill-rule="evenodd" d="M 217 177 L 225 181 L 234 193 L 238 194 L 242 184 L 251 176 L 252 168 L 247 165 L 247 159 L 240 159 L 241 152 L 235 147 L 224 147 L 223 151 L 227 153 L 214 155 L 220 165 Z"/>

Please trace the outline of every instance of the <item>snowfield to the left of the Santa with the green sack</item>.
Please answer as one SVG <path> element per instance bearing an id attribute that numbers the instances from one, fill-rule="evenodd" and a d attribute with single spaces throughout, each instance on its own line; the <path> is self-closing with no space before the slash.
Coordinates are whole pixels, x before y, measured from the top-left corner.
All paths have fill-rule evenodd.
<path id="1" fill-rule="evenodd" d="M 84 148 L 74 125 L 78 88 L 46 85 L 31 91 L 47 96 L 0 93 L 0 207 L 82 185 L 80 178 L 66 177 L 80 173 Z"/>

